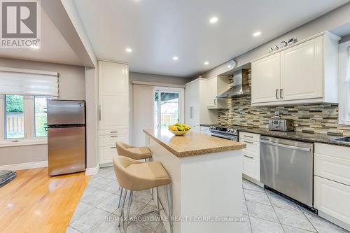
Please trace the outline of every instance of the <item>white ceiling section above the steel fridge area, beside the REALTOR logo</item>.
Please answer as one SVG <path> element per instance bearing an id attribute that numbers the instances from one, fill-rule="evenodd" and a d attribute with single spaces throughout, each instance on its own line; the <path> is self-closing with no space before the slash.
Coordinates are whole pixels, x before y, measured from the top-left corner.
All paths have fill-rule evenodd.
<path id="1" fill-rule="evenodd" d="M 43 10 L 41 10 L 41 48 L 37 50 L 31 48 L 1 48 L 0 57 L 82 65 L 79 57 L 66 43 L 62 34 Z"/>

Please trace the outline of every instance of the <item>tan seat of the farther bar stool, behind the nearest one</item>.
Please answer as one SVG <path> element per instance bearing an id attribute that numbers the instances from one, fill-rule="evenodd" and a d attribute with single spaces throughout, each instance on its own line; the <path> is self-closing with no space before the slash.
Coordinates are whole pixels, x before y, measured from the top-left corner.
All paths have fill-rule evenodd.
<path id="1" fill-rule="evenodd" d="M 145 160 L 152 158 L 151 150 L 147 146 L 136 147 L 130 146 L 127 143 L 121 141 L 116 142 L 118 155 L 124 157 L 130 157 L 133 160 Z"/>

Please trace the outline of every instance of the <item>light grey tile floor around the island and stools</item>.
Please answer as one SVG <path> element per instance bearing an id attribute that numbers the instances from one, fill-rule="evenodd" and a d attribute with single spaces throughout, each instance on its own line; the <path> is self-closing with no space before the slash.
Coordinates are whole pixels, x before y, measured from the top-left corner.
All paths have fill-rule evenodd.
<path id="1" fill-rule="evenodd" d="M 118 228 L 118 188 L 113 167 L 99 169 L 99 174 L 90 179 L 66 232 L 121 232 Z M 243 180 L 243 197 L 244 233 L 347 232 L 294 202 L 246 180 Z M 132 216 L 155 208 L 151 192 L 134 193 Z M 156 218 L 157 213 L 153 213 L 153 217 Z M 127 232 L 163 233 L 165 229 L 159 220 L 144 220 L 132 223 Z"/>

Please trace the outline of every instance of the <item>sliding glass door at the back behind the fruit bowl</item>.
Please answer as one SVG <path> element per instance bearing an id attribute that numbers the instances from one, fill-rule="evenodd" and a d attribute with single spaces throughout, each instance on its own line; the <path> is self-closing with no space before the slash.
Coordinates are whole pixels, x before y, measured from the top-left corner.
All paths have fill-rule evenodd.
<path id="1" fill-rule="evenodd" d="M 167 129 L 182 120 L 181 90 L 158 89 L 154 92 L 154 125 L 157 129 Z M 182 90 L 183 91 L 183 90 Z"/>

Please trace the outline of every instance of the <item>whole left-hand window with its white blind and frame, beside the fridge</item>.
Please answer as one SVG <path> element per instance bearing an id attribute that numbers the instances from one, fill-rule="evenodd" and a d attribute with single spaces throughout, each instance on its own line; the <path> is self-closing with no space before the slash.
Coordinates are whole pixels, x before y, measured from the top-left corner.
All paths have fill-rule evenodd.
<path id="1" fill-rule="evenodd" d="M 46 101 L 59 97 L 58 73 L 0 67 L 0 147 L 46 142 Z"/>

